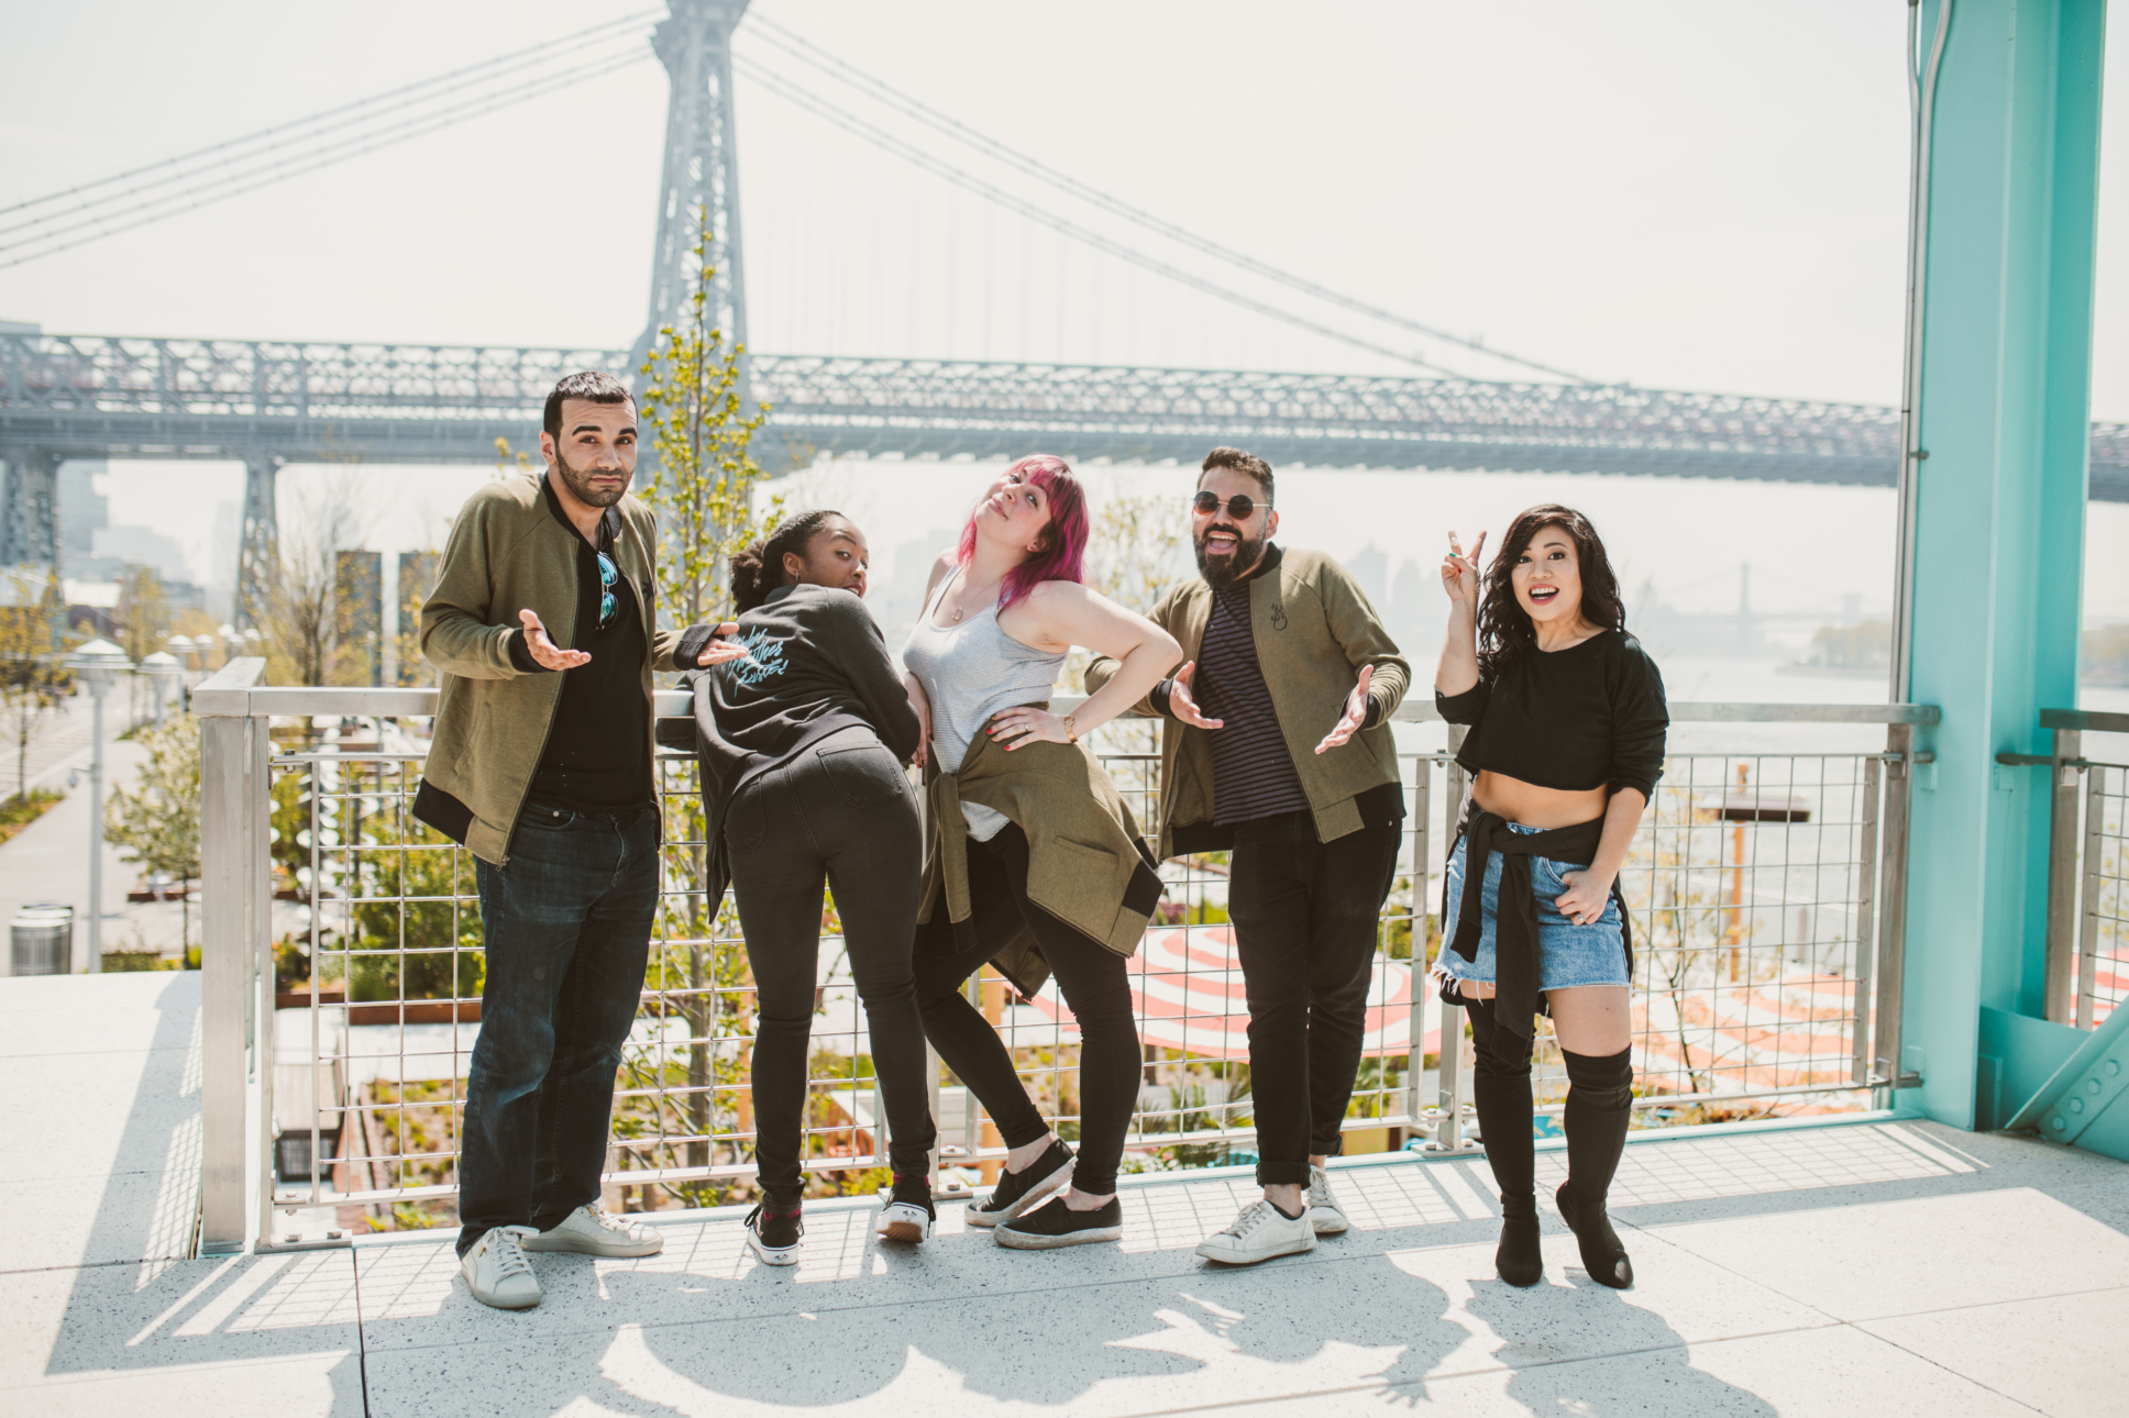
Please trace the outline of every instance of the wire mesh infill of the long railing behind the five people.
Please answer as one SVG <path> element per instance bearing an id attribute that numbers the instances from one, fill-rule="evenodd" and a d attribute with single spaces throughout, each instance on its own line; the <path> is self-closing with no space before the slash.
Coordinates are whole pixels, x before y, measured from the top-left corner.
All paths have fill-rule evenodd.
<path id="1" fill-rule="evenodd" d="M 417 735 L 362 720 L 309 732 L 273 760 L 270 852 L 287 903 L 275 941 L 275 1201 L 362 1207 L 373 1226 L 447 1216 L 481 1028 L 481 869 L 415 822 L 419 749 Z M 1101 749 L 1152 837 L 1152 726 L 1111 726 Z M 1458 805 L 1448 801 L 1443 754 L 1401 754 L 1399 764 L 1409 811 L 1377 926 L 1348 1152 L 1401 1148 L 1431 1126 L 1418 1103 L 1435 1099 L 1443 1011 L 1426 971 L 1439 952 L 1441 858 Z M 1646 1122 L 1859 1105 L 1880 769 L 1871 754 L 1671 758 L 1620 877 Z M 628 1209 L 715 1205 L 754 1190 L 754 975 L 730 894 L 711 903 L 703 892 L 696 762 L 660 754 L 656 773 L 660 901 L 605 1169 L 609 1205 Z M 2110 781 L 2106 860 L 2116 875 L 2101 898 L 2112 913 L 2129 901 L 2118 901 L 2120 771 Z M 1231 858 L 1171 860 L 1162 879 L 1158 916 L 1130 960 L 1143 1067 L 1126 1169 L 1250 1160 Z M 2118 920 L 2106 920 L 2112 943 Z M 809 1190 L 871 1192 L 888 1177 L 886 1109 L 832 896 L 815 979 Z M 969 999 L 1058 1133 L 1077 1137 L 1079 1035 L 1056 986 L 1020 999 L 986 967 Z M 1550 1028 L 1539 1030 L 1537 1079 L 1546 1118 L 1565 1097 Z M 941 1167 L 967 1184 L 994 1180 L 1005 1156 L 996 1128 L 958 1079 L 941 1071 L 939 1082 Z"/>

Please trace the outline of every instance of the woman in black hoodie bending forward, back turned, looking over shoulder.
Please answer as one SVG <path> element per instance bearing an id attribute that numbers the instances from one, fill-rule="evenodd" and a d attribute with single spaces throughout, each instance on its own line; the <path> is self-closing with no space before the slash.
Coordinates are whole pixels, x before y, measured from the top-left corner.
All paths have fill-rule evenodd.
<path id="1" fill-rule="evenodd" d="M 798 1260 L 807 1054 L 820 984 L 822 884 L 835 890 L 843 945 L 871 1026 L 886 1097 L 894 1188 L 879 1235 L 922 1241 L 933 1203 L 933 1120 L 924 1024 L 909 952 L 924 837 L 903 775 L 918 715 L 864 596 L 864 534 L 811 511 L 732 556 L 745 660 L 696 679 L 709 803 L 711 881 L 730 871 L 756 984 L 754 1158 L 762 1203 L 747 1246 L 769 1265 Z"/>

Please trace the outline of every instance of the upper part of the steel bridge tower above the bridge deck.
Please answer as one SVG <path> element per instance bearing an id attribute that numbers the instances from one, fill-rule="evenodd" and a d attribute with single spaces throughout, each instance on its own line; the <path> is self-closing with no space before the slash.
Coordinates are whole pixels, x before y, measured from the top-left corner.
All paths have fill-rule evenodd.
<path id="1" fill-rule="evenodd" d="M 651 249 L 651 307 L 630 349 L 643 366 L 658 328 L 679 319 L 694 292 L 696 207 L 709 211 L 709 262 L 717 275 L 709 319 L 735 345 L 747 341 L 747 281 L 739 243 L 739 130 L 732 123 L 732 30 L 747 0 L 671 0 L 651 49 L 673 79 L 666 100 L 664 179 L 658 183 L 658 243 Z M 745 398 L 745 388 L 741 388 Z"/>

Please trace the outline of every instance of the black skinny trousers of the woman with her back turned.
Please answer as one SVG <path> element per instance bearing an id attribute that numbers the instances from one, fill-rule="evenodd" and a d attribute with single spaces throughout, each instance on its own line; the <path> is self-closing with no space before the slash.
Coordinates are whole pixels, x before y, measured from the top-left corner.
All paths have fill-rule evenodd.
<path id="1" fill-rule="evenodd" d="M 922 1177 L 935 1139 L 909 947 L 924 832 L 901 764 L 867 728 L 832 732 L 741 788 L 724 818 L 724 841 L 760 1005 L 754 1160 L 762 1192 L 794 1203 L 805 1186 L 798 1163 L 822 881 L 835 888 L 849 973 L 864 1001 L 873 1071 L 888 1105 L 888 1160 L 896 1175 Z"/>

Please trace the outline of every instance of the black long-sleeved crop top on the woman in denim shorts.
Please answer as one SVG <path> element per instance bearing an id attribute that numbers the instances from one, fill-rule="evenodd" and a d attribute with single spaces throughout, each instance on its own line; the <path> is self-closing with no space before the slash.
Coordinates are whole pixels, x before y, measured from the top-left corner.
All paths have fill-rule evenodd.
<path id="1" fill-rule="evenodd" d="M 1435 707 L 1471 732 L 1456 752 L 1469 773 L 1488 769 L 1539 788 L 1633 788 L 1656 796 L 1671 715 L 1663 675 L 1624 630 L 1603 630 L 1546 654 L 1535 645 L 1463 694 L 1435 690 Z"/>

